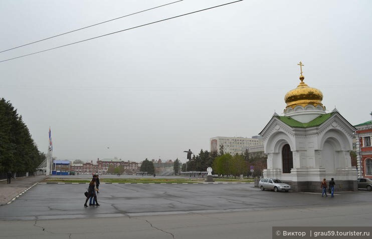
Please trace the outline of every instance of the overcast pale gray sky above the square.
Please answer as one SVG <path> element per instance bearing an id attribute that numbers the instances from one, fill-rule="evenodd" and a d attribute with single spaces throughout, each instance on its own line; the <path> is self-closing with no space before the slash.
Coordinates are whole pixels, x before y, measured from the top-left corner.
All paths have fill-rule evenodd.
<path id="1" fill-rule="evenodd" d="M 2 0 L 0 50 L 174 0 Z M 0 60 L 219 5 L 183 0 Z M 185 161 L 214 136 L 257 135 L 300 82 L 351 123 L 370 120 L 372 1 L 243 0 L 0 63 L 0 97 L 58 159 Z M 107 148 L 109 147 L 109 148 Z"/>

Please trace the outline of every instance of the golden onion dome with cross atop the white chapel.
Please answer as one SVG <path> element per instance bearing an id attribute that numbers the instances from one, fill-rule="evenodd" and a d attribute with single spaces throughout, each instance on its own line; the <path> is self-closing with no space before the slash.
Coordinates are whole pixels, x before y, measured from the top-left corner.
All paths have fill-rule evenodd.
<path id="1" fill-rule="evenodd" d="M 306 105 L 312 104 L 315 107 L 317 105 L 321 105 L 323 109 L 325 107 L 322 104 L 323 99 L 323 93 L 316 88 L 309 87 L 303 80 L 305 79 L 305 76 L 302 75 L 302 62 L 298 64 L 301 68 L 300 73 L 300 84 L 297 86 L 297 88 L 292 89 L 288 91 L 285 96 L 284 100 L 287 103 L 287 108 L 291 107 L 294 108 L 297 105 L 301 105 L 302 107 L 305 107 Z"/>

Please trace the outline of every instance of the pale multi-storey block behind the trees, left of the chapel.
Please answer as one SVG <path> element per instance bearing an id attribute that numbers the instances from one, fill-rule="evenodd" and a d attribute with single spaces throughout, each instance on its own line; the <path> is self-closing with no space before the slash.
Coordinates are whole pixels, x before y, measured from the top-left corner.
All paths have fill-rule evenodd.
<path id="1" fill-rule="evenodd" d="M 251 146 L 263 146 L 264 140 L 261 136 L 253 136 L 252 138 L 247 137 L 212 137 L 211 142 L 211 152 L 220 151 L 221 145 L 224 145 L 224 153 L 230 153 L 235 155 L 237 153 L 244 153 L 246 149 L 249 150 Z"/>

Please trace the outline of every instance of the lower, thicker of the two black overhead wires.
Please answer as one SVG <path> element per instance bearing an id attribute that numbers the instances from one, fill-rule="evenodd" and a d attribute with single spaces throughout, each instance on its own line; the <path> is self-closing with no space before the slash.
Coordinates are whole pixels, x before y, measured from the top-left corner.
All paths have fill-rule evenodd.
<path id="1" fill-rule="evenodd" d="M 133 26 L 133 27 L 126 28 L 126 29 L 123 29 L 123 30 L 118 30 L 118 31 L 114 31 L 114 32 L 111 32 L 111 33 L 107 33 L 107 34 L 103 34 L 103 35 L 95 36 L 95 37 L 92 37 L 92 38 L 88 38 L 88 39 L 84 39 L 84 40 L 75 41 L 75 42 L 72 42 L 72 43 L 69 43 L 69 44 L 60 45 L 60 46 L 53 47 L 53 48 L 49 48 L 49 49 L 45 49 L 45 50 L 40 50 L 40 51 L 33 52 L 33 53 L 30 53 L 30 54 L 25 54 L 25 55 L 21 55 L 21 56 L 17 56 L 17 57 L 9 58 L 9 59 L 1 60 L 0 63 L 1 63 L 1 62 L 4 62 L 4 61 L 8 61 L 8 60 L 13 60 L 13 59 L 17 59 L 17 58 L 21 58 L 21 57 L 25 57 L 25 56 L 33 55 L 33 54 L 38 54 L 38 53 L 45 52 L 45 51 L 48 51 L 48 50 L 58 49 L 58 48 L 61 48 L 61 47 L 64 47 L 64 46 L 68 46 L 68 45 L 72 45 L 72 44 L 76 44 L 76 43 L 84 42 L 84 41 L 87 41 L 87 40 L 92 40 L 92 39 L 96 39 L 96 38 L 99 38 L 99 37 L 103 37 L 103 36 L 107 36 L 107 35 L 111 35 L 111 34 L 119 33 L 119 32 L 122 32 L 122 31 L 131 30 L 131 29 L 135 29 L 135 28 L 138 28 L 138 27 L 142 27 L 142 26 L 146 26 L 146 25 L 150 25 L 150 24 L 158 23 L 158 22 L 161 22 L 161 21 L 170 20 L 170 19 L 177 18 L 177 17 L 180 17 L 180 16 L 185 16 L 185 15 L 189 15 L 189 14 L 197 13 L 197 12 L 200 12 L 200 11 L 210 10 L 210 9 L 212 9 L 212 8 L 216 8 L 216 7 L 220 7 L 220 6 L 225 6 L 225 5 L 232 4 L 232 3 L 235 3 L 235 2 L 238 2 L 238 1 L 242 1 L 242 0 L 232 1 L 232 2 L 225 3 L 225 4 L 221 4 L 221 5 L 217 5 L 217 6 L 212 6 L 212 7 L 204 8 L 204 9 L 201 9 L 201 10 L 192 11 L 192 12 L 189 12 L 189 13 L 184 13 L 184 14 L 181 14 L 181 15 L 172 16 L 172 17 L 165 18 L 165 19 L 161 19 L 161 20 L 157 20 L 157 21 L 152 21 L 152 22 L 145 23 L 145 24 L 142 24 L 142 25 Z"/>

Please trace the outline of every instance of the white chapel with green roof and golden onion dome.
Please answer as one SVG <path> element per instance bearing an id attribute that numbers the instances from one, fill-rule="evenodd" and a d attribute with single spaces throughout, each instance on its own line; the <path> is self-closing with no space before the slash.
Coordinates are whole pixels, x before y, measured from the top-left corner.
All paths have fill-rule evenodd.
<path id="1" fill-rule="evenodd" d="M 303 80 L 284 96 L 284 115 L 274 113 L 260 132 L 267 153 L 264 177 L 279 178 L 294 191 L 319 191 L 332 177 L 339 190 L 356 190 L 357 171 L 349 151 L 355 128 L 334 109 L 326 113 L 323 94 Z"/>

